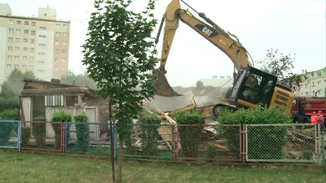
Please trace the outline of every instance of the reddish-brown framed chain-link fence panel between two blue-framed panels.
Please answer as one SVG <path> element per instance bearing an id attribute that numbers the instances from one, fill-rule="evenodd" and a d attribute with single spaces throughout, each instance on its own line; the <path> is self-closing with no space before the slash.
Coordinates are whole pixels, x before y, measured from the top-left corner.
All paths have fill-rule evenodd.
<path id="1" fill-rule="evenodd" d="M 63 152 L 63 122 L 22 122 L 22 149 Z"/>

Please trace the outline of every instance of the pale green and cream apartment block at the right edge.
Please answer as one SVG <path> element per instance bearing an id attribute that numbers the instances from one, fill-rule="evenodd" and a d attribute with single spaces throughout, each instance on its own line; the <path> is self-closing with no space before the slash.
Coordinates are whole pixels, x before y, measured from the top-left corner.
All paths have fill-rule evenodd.
<path id="1" fill-rule="evenodd" d="M 302 80 L 301 88 L 295 91 L 296 96 L 325 96 L 326 67 L 306 74 Z"/>

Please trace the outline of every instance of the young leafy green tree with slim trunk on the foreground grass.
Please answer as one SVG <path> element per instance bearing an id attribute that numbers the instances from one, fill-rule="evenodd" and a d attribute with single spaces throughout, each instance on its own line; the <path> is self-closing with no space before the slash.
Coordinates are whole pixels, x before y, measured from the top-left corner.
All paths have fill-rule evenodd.
<path id="1" fill-rule="evenodd" d="M 142 110 L 139 103 L 154 97 L 154 79 L 149 71 L 156 64 L 151 33 L 157 21 L 149 11 L 155 0 L 149 0 L 146 10 L 127 10 L 131 1 L 95 1 L 96 12 L 88 23 L 89 36 L 82 46 L 89 77 L 97 82 L 99 94 L 116 105 L 112 120 L 119 134 L 119 173 L 122 181 L 123 136 L 128 134 L 132 119 Z M 148 19 L 149 17 L 149 19 Z M 136 88 L 139 88 L 136 90 Z"/>

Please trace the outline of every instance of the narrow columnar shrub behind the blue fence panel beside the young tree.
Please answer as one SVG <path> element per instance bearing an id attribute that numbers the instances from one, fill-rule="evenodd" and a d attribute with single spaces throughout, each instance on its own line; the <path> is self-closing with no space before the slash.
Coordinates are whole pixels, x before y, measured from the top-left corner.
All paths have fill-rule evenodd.
<path id="1" fill-rule="evenodd" d="M 74 117 L 76 122 L 88 122 L 86 114 L 83 112 Z M 76 124 L 77 147 L 82 152 L 86 152 L 90 147 L 89 145 L 89 124 Z"/>

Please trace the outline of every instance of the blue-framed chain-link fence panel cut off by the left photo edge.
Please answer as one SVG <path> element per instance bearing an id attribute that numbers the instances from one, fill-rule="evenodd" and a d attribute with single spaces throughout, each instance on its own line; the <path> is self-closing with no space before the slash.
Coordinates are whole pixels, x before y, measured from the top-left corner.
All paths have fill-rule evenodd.
<path id="1" fill-rule="evenodd" d="M 0 148 L 20 149 L 22 121 L 0 120 Z"/>

